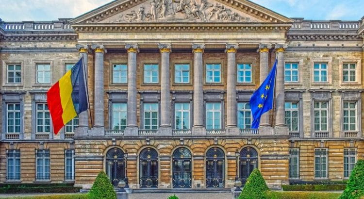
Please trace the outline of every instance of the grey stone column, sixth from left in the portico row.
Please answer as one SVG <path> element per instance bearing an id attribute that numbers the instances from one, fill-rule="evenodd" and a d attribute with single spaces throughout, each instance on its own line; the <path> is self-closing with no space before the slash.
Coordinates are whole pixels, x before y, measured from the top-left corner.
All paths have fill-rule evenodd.
<path id="1" fill-rule="evenodd" d="M 227 85 L 227 122 L 226 134 L 239 134 L 236 120 L 236 51 L 239 49 L 238 44 L 226 44 L 225 52 L 228 54 L 228 85 Z"/>

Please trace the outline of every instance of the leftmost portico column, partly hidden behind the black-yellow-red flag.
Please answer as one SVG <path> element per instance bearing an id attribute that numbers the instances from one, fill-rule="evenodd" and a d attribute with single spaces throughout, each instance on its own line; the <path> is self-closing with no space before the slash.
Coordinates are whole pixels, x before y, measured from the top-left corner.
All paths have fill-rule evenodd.
<path id="1" fill-rule="evenodd" d="M 87 74 L 88 74 L 88 45 L 87 44 L 76 44 L 76 48 L 80 53 L 80 59 L 83 58 L 83 69 L 84 69 L 84 73 L 85 73 L 85 78 L 87 80 Z M 89 125 L 88 125 L 88 113 L 89 110 L 84 111 L 82 113 L 80 113 L 79 115 L 79 126 L 78 128 L 76 128 L 75 130 L 75 136 L 87 136 L 88 135 L 88 129 L 89 129 Z"/>

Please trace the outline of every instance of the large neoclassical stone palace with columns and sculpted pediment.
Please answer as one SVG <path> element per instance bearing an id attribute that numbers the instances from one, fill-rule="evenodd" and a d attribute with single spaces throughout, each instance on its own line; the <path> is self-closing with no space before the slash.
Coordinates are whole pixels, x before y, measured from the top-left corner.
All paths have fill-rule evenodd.
<path id="1" fill-rule="evenodd" d="M 248 0 L 114 0 L 0 20 L 0 182 L 271 188 L 343 181 L 364 158 L 364 18 L 288 18 Z M 81 57 L 90 111 L 54 134 L 46 92 Z M 249 99 L 278 60 L 274 108 Z"/>

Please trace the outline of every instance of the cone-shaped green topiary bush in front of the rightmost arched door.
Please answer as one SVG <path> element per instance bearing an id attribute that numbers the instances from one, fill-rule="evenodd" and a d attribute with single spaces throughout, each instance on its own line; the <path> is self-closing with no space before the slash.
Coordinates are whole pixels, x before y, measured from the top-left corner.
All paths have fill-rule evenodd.
<path id="1" fill-rule="evenodd" d="M 265 199 L 265 191 L 268 191 L 259 169 L 254 169 L 249 175 L 239 199 Z"/>

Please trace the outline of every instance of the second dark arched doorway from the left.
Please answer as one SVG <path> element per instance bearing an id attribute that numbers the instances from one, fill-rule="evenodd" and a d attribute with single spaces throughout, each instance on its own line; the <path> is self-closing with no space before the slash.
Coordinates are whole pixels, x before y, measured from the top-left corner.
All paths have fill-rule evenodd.
<path id="1" fill-rule="evenodd" d="M 152 148 L 143 149 L 139 156 L 140 188 L 158 187 L 158 153 Z"/>

